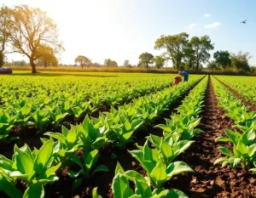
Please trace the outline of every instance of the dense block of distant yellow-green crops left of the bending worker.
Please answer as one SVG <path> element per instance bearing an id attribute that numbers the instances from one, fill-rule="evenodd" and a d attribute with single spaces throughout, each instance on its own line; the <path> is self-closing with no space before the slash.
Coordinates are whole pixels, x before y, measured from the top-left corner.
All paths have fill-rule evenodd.
<path id="1" fill-rule="evenodd" d="M 172 76 L 171 76 L 172 77 Z M 125 78 L 18 76 L 0 79 L 0 139 L 7 139 L 15 125 L 23 133 L 59 130 L 61 125 L 76 124 L 85 115 L 131 99 L 170 88 L 170 76 Z"/>

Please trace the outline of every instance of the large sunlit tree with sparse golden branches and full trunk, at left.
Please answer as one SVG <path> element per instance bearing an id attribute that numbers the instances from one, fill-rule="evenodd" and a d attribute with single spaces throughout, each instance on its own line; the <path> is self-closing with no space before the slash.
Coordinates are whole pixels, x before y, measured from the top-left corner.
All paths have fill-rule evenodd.
<path id="1" fill-rule="evenodd" d="M 32 66 L 32 73 L 37 72 L 36 60 L 45 55 L 42 46 L 53 48 L 55 53 L 64 50 L 58 41 L 55 22 L 41 9 L 27 5 L 16 6 L 11 20 L 9 37 L 13 52 L 26 55 Z"/>

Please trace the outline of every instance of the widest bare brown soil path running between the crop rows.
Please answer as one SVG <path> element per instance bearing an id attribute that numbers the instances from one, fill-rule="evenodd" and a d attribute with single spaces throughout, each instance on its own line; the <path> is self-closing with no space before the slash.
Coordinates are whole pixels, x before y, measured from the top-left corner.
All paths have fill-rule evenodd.
<path id="1" fill-rule="evenodd" d="M 194 174 L 183 173 L 173 178 L 166 188 L 183 190 L 190 198 L 256 197 L 256 177 L 242 170 L 213 165 L 221 154 L 218 146 L 231 144 L 215 142 L 224 135 L 224 129 L 232 129 L 233 122 L 218 108 L 218 102 L 209 79 L 200 128 L 204 131 L 195 137 L 195 144 L 179 158 L 195 170 Z"/>

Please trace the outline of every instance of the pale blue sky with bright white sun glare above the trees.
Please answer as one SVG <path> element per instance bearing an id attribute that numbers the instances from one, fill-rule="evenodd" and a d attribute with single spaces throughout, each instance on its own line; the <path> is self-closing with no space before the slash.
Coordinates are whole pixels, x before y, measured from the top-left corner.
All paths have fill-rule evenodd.
<path id="1" fill-rule="evenodd" d="M 154 50 L 160 35 L 188 32 L 209 35 L 215 49 L 250 52 L 256 65 L 255 0 L 2 0 L 13 6 L 28 4 L 49 13 L 58 25 L 66 51 L 61 63 L 73 64 L 78 55 L 94 62 L 125 59 L 137 64 L 143 52 Z M 241 24 L 247 20 L 247 24 Z M 22 59 L 10 54 L 8 59 Z M 26 59 L 26 58 L 24 58 Z"/>

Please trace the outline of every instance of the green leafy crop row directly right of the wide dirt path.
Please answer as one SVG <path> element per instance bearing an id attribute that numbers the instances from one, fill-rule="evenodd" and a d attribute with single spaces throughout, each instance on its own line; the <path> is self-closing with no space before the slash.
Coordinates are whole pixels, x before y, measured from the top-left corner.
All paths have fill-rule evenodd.
<path id="1" fill-rule="evenodd" d="M 219 77 L 218 77 L 219 78 Z M 237 99 L 223 84 L 212 79 L 218 104 L 236 124 L 236 131 L 225 130 L 226 137 L 219 137 L 217 141 L 230 142 L 231 150 L 220 147 L 219 150 L 224 157 L 215 163 L 221 163 L 222 167 L 230 165 L 232 168 L 242 167 L 246 171 L 256 173 L 256 111 L 249 111 L 240 99 Z M 253 82 L 253 81 L 252 81 Z M 255 85 L 254 85 L 255 86 Z M 240 93 L 244 90 L 253 89 L 253 83 L 244 84 L 243 87 L 234 87 Z M 255 88 L 255 87 L 254 87 Z"/>

